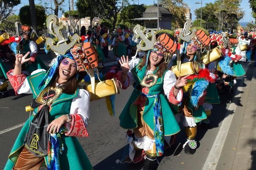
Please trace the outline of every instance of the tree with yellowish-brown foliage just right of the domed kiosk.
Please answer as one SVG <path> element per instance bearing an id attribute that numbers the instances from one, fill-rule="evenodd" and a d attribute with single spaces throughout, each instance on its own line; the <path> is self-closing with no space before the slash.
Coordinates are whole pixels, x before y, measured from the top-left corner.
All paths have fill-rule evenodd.
<path id="1" fill-rule="evenodd" d="M 186 21 L 187 4 L 183 0 L 161 0 L 164 7 L 167 7 L 173 15 L 172 26 L 175 28 L 182 28 Z"/>

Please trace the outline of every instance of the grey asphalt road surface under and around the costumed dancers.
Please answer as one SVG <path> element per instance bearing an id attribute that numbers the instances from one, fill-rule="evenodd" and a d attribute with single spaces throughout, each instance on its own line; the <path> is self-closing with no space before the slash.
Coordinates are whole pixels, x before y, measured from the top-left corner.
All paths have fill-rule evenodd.
<path id="1" fill-rule="evenodd" d="M 244 67 L 245 70 L 247 66 Z M 243 78 L 237 80 L 238 86 L 243 86 Z M 132 87 L 122 90 L 121 94 L 116 95 L 114 117 L 107 113 L 105 99 L 92 101 L 90 106 L 90 118 L 88 123 L 89 138 L 79 137 L 79 141 L 85 150 L 94 170 L 140 170 L 143 164 L 116 164 L 117 159 L 122 159 L 127 147 L 126 131 L 119 126 L 118 116 L 125 106 Z M 14 96 L 12 88 L 9 86 L 9 97 L 0 99 L 0 131 L 19 125 L 26 121 L 29 113 L 25 112 L 25 106 L 32 101 L 32 95 Z M 210 117 L 211 129 L 205 130 L 199 126 L 197 131 L 198 148 L 194 155 L 185 154 L 182 148 L 186 141 L 185 133 L 181 128 L 177 135 L 177 140 L 173 147 L 167 149 L 164 156 L 159 157 L 160 170 L 199 170 L 202 169 L 207 159 L 209 151 L 213 146 L 216 135 L 219 132 L 221 122 L 226 117 L 229 104 L 225 102 L 214 105 L 212 116 Z M 234 114 L 234 113 L 230 113 Z M 237 120 L 238 123 L 241 121 Z M 181 126 L 182 127 L 182 126 Z M 3 169 L 12 145 L 21 127 L 0 134 L 0 169 Z M 224 142 L 224 141 L 223 141 Z M 230 147 L 230 153 L 233 146 Z M 223 160 L 222 160 L 223 161 Z M 226 159 L 224 164 L 232 164 L 232 160 Z M 228 169 L 224 165 L 218 169 Z"/>

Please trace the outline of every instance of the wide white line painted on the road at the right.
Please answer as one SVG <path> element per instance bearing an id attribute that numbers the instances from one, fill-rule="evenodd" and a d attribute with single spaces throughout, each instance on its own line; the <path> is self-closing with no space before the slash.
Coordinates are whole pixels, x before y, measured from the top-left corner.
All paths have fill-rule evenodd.
<path id="1" fill-rule="evenodd" d="M 242 87 L 237 87 L 237 91 L 242 91 Z M 241 93 L 237 94 L 233 98 L 237 97 L 239 98 L 241 96 Z M 208 154 L 208 157 L 206 159 L 206 162 L 204 163 L 202 170 L 216 170 L 217 164 L 220 159 L 220 154 L 222 151 L 222 148 L 224 146 L 224 143 L 227 138 L 227 133 L 229 132 L 229 128 L 233 119 L 234 114 L 230 114 L 230 111 L 233 111 L 233 113 L 236 111 L 237 105 L 235 103 L 231 103 L 229 106 L 229 109 L 226 113 L 225 119 L 222 121 L 219 133 L 217 134 L 213 146 L 211 147 L 211 150 Z"/>

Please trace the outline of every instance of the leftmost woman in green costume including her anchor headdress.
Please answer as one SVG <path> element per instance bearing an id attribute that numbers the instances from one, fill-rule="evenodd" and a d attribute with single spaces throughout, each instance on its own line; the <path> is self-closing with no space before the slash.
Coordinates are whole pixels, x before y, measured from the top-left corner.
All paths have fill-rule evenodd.
<path id="1" fill-rule="evenodd" d="M 62 25 L 59 26 L 57 16 L 49 16 L 47 23 L 58 40 L 65 39 L 63 33 L 57 31 L 64 29 Z M 4 170 L 36 170 L 40 166 L 46 166 L 49 170 L 92 169 L 76 139 L 76 136 L 88 137 L 86 127 L 91 99 L 88 91 L 78 87 L 78 80 L 79 74 L 98 65 L 98 58 L 94 47 L 90 43 L 83 43 L 84 49 L 90 51 L 93 63 L 84 59 L 88 53 L 78 47 L 73 49 L 80 37 L 74 34 L 69 38 L 69 43 L 65 41 L 58 46 L 52 43 L 53 39 L 47 38 L 47 46 L 60 53 L 52 60 L 47 72 L 38 69 L 26 77 L 21 68 L 22 64 L 31 60 L 27 58 L 30 52 L 24 56 L 16 54 L 14 70 L 10 70 L 7 76 L 16 94 L 33 94 L 34 99 L 27 108 L 32 115 L 20 131 Z M 81 49 L 82 45 L 77 46 Z M 77 51 L 82 52 L 78 54 Z M 81 62 L 85 60 L 88 67 L 83 68 Z"/>

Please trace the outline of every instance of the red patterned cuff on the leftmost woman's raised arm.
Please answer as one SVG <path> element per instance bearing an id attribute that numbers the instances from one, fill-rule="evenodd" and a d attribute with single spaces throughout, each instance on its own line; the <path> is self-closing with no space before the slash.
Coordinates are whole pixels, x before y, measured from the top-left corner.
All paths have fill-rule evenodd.
<path id="1" fill-rule="evenodd" d="M 26 76 L 25 74 L 19 74 L 19 75 L 15 75 L 13 76 L 13 71 L 14 70 L 10 70 L 6 73 L 9 81 L 10 81 L 10 84 L 12 85 L 13 87 L 13 90 L 15 91 L 15 94 L 18 95 L 17 91 L 18 89 L 20 89 L 20 86 L 22 86 L 23 82 L 25 81 L 26 79 Z"/>

